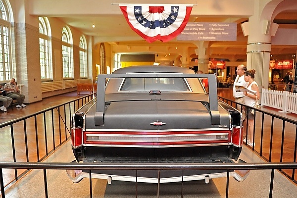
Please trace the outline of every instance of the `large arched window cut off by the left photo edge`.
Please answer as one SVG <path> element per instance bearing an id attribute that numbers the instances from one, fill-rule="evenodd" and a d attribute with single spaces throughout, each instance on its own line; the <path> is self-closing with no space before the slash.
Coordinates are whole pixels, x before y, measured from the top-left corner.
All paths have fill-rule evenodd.
<path id="1" fill-rule="evenodd" d="M 0 81 L 12 78 L 10 29 L 7 6 L 0 0 Z"/>

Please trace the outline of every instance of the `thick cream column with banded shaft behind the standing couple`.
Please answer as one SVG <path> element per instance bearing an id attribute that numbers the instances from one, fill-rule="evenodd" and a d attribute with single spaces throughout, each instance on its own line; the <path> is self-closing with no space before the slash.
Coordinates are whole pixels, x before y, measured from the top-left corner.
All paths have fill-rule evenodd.
<path id="1" fill-rule="evenodd" d="M 247 69 L 256 70 L 255 81 L 260 92 L 269 86 L 269 61 L 271 36 L 275 36 L 278 25 L 273 23 L 273 13 L 277 4 L 268 5 L 269 0 L 255 1 L 254 15 L 243 23 L 242 30 L 247 37 Z"/>

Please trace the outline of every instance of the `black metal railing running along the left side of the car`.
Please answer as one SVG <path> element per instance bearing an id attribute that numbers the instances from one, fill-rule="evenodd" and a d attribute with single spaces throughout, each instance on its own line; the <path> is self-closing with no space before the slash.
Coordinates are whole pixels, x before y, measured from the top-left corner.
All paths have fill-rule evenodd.
<path id="1" fill-rule="evenodd" d="M 45 159 L 69 139 L 72 114 L 92 99 L 92 94 L 86 95 L 0 124 L 3 139 L 0 161 L 40 162 Z M 4 175 L 14 175 L 14 178 L 5 177 L 3 186 L 17 181 L 28 171 L 5 170 Z"/>

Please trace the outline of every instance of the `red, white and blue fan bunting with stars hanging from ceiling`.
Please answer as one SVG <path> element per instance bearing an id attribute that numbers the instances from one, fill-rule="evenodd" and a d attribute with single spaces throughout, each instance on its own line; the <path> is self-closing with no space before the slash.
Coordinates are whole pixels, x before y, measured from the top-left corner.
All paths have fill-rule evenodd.
<path id="1" fill-rule="evenodd" d="M 170 41 L 178 36 L 188 23 L 191 4 L 119 4 L 130 27 L 148 43 Z"/>

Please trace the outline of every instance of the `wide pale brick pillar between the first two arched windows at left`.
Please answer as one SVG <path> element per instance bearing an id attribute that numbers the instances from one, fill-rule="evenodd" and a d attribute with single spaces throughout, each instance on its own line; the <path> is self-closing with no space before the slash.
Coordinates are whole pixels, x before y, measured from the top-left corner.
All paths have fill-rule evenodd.
<path id="1" fill-rule="evenodd" d="M 15 70 L 13 77 L 18 84 L 22 84 L 24 103 L 42 100 L 40 57 L 39 57 L 39 19 L 31 16 L 27 7 L 30 3 L 26 0 L 18 0 L 13 4 L 15 10 L 12 23 L 13 63 Z"/>

